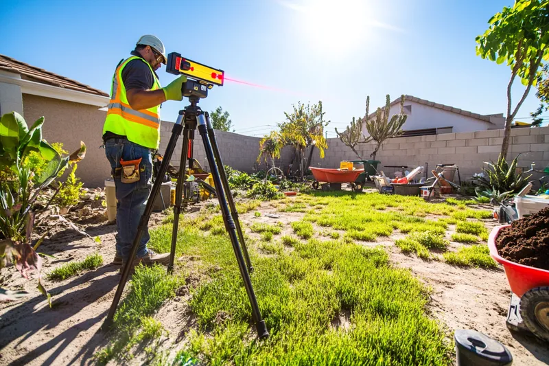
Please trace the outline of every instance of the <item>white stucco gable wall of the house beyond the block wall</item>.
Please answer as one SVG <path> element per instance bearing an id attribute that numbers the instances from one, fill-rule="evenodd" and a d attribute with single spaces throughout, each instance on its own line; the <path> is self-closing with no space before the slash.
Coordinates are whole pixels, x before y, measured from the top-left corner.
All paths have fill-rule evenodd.
<path id="1" fill-rule="evenodd" d="M 441 128 L 452 127 L 452 132 L 471 132 L 489 130 L 495 127 L 489 122 L 483 122 L 476 118 L 467 117 L 450 111 L 443 111 L 439 108 L 426 106 L 406 100 L 404 106 L 411 106 L 412 113 L 407 113 L 408 117 L 402 127 L 403 130 L 421 130 L 423 128 Z M 400 113 L 400 104 L 390 107 L 390 116 Z M 364 134 L 367 131 L 364 128 Z"/>

